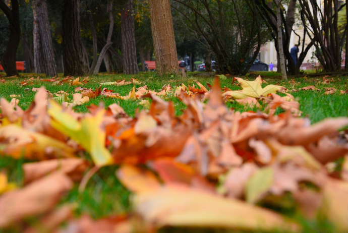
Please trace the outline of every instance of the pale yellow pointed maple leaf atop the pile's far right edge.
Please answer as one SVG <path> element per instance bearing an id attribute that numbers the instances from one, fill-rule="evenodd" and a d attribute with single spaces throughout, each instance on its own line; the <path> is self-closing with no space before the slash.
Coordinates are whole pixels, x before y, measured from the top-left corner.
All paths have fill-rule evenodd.
<path id="1" fill-rule="evenodd" d="M 232 99 L 245 99 L 247 97 L 261 98 L 266 96 L 269 93 L 275 93 L 280 90 L 285 90 L 285 87 L 277 85 L 267 85 L 265 88 L 262 88 L 261 77 L 257 77 L 254 81 L 246 81 L 241 78 L 236 78 L 240 83 L 243 90 L 240 91 L 226 91 L 222 96 L 230 97 Z"/>

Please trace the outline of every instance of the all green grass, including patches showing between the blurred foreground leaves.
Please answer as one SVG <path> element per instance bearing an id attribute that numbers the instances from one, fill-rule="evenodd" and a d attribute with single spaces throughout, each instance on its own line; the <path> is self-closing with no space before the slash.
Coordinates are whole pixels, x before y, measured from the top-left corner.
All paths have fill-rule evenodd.
<path id="1" fill-rule="evenodd" d="M 59 91 L 65 91 L 69 94 L 69 97 L 72 98 L 72 94 L 75 93 L 76 87 L 83 88 L 92 88 L 95 89 L 99 87 L 102 82 L 114 82 L 115 80 L 126 80 L 129 81 L 132 78 L 137 79 L 141 83 L 136 84 L 135 88 L 144 86 L 145 84 L 148 87 L 148 90 L 160 91 L 163 85 L 170 84 L 171 87 L 176 87 L 182 83 L 185 85 L 195 84 L 196 81 L 203 84 L 208 89 L 208 83 L 212 84 L 213 78 L 193 76 L 190 74 L 187 78 L 182 77 L 157 77 L 154 73 L 142 73 L 139 75 L 98 75 L 95 77 L 89 77 L 89 82 L 81 85 L 71 85 L 65 83 L 63 85 L 54 85 L 52 82 L 42 82 L 39 80 L 33 80 L 32 83 L 22 85 L 21 82 L 30 79 L 31 77 L 36 78 L 35 74 L 27 74 L 26 77 L 21 78 L 4 78 L 5 82 L 0 83 L 0 95 L 7 100 L 11 100 L 12 97 L 16 96 L 20 100 L 19 106 L 22 109 L 27 109 L 31 102 L 33 101 L 35 92 L 32 91 L 32 88 L 39 88 L 44 86 L 49 92 L 57 93 Z M 40 76 L 41 79 L 46 77 Z M 288 90 L 296 89 L 307 86 L 314 85 L 317 90 L 300 90 L 298 92 L 291 92 L 292 95 L 300 103 L 300 110 L 303 112 L 302 117 L 308 117 L 311 120 L 311 123 L 319 122 L 325 118 L 335 118 L 338 116 L 348 116 L 348 94 L 340 94 L 339 90 L 346 90 L 347 80 L 344 77 L 334 78 L 334 81 L 329 82 L 328 84 L 322 84 L 322 77 L 317 78 L 301 78 L 295 79 L 294 81 L 280 81 L 277 79 L 272 79 L 271 77 L 264 77 L 266 83 L 263 86 L 269 84 L 276 84 L 286 87 Z M 253 78 L 247 77 L 249 80 Z M 80 80 L 81 81 L 81 80 Z M 221 79 L 221 87 L 227 87 L 231 90 L 241 89 L 236 82 L 232 84 L 233 79 Z M 124 86 L 115 86 L 115 85 L 103 85 L 108 90 L 113 90 L 114 92 L 119 93 L 121 96 L 127 95 L 133 88 L 133 84 L 124 85 Z M 324 88 L 334 87 L 338 91 L 333 94 L 325 94 Z M 176 114 L 180 115 L 182 110 L 185 109 L 185 105 L 176 97 L 164 97 L 167 101 L 173 101 L 176 109 Z M 140 105 L 140 100 L 122 100 L 118 98 L 109 98 L 105 96 L 98 96 L 96 98 L 90 99 L 86 104 L 80 106 L 75 106 L 74 109 L 78 112 L 87 112 L 87 106 L 91 104 L 100 104 L 103 102 L 105 107 L 112 103 L 117 103 L 124 108 L 127 114 L 134 116 L 137 108 L 142 109 L 143 106 Z M 246 107 L 242 104 L 239 104 L 235 101 L 226 103 L 228 107 L 235 108 L 238 111 L 262 111 L 264 106 L 260 108 L 257 107 Z M 280 109 L 277 110 L 279 113 Z M 18 185 L 22 184 L 23 181 L 23 171 L 21 165 L 24 160 L 14 160 L 9 157 L 0 158 L 0 170 L 6 169 L 10 171 L 10 180 L 16 182 Z M 130 206 L 129 197 L 130 192 L 125 189 L 118 179 L 114 176 L 114 172 L 117 167 L 103 167 L 101 168 L 94 176 L 91 178 L 86 189 L 80 193 L 78 192 L 77 185 L 75 188 L 62 200 L 62 202 L 77 203 L 76 214 L 89 213 L 95 218 L 107 216 L 110 214 L 125 213 L 132 208 Z M 35 219 L 32 221 L 35 222 Z M 322 229 L 325 222 L 316 222 L 316 223 L 306 223 L 307 226 L 312 230 Z M 318 225 L 319 224 L 319 225 Z M 321 225 L 320 225 L 321 224 Z M 16 229 L 13 229 L 16 232 Z M 0 230 L 0 232 L 2 232 Z M 179 231 L 180 232 L 180 231 Z M 202 232 L 202 231 L 200 231 Z M 233 231 L 236 232 L 236 231 Z M 312 231 L 314 232 L 314 231 Z"/>

